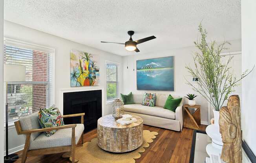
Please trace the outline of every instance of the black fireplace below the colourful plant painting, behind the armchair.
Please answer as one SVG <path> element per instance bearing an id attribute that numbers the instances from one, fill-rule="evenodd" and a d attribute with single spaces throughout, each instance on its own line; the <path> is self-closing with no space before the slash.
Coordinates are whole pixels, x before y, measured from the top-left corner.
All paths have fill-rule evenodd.
<path id="1" fill-rule="evenodd" d="M 101 90 L 66 92 L 63 94 L 63 115 L 84 112 L 84 133 L 95 129 L 102 116 L 101 96 Z M 80 117 L 64 118 L 65 125 L 80 122 Z"/>

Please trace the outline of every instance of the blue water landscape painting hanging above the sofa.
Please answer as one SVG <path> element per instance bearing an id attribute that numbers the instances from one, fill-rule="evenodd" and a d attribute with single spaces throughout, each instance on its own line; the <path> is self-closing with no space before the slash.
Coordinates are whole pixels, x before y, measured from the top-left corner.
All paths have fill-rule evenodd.
<path id="1" fill-rule="evenodd" d="M 174 91 L 174 56 L 136 61 L 137 90 Z"/>

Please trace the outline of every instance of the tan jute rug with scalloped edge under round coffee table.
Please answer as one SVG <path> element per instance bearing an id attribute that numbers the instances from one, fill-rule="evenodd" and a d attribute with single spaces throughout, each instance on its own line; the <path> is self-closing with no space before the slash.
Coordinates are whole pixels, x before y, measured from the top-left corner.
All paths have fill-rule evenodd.
<path id="1" fill-rule="evenodd" d="M 102 150 L 97 145 L 97 138 L 86 142 L 82 147 L 78 147 L 75 151 L 75 158 L 79 163 L 135 163 L 135 159 L 141 157 L 141 153 L 145 152 L 145 148 L 149 147 L 155 139 L 157 132 L 143 130 L 143 144 L 136 150 L 128 153 L 110 153 Z M 71 158 L 70 158 L 71 159 Z"/>

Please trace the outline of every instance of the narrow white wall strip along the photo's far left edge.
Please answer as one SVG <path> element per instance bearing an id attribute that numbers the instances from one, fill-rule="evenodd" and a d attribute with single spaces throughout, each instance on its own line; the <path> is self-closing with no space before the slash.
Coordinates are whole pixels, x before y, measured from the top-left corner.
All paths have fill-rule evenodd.
<path id="1" fill-rule="evenodd" d="M 0 0 L 0 92 L 4 92 L 4 0 Z M 0 93 L 0 106 L 4 106 L 4 97 Z M 0 107 L 0 131 L 4 130 L 4 107 Z M 0 163 L 4 162 L 4 132 L 0 132 Z"/>

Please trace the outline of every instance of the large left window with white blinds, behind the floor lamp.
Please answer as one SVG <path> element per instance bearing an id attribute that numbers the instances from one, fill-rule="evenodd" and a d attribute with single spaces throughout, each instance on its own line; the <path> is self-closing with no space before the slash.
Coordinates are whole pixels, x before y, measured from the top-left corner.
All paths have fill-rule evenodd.
<path id="1" fill-rule="evenodd" d="M 24 65 L 26 71 L 26 81 L 7 83 L 9 125 L 22 116 L 53 105 L 52 56 L 54 50 L 50 50 L 42 48 L 38 50 L 38 47 L 5 41 L 4 64 Z M 6 92 L 4 94 L 6 96 Z"/>

